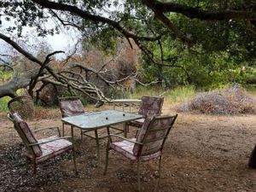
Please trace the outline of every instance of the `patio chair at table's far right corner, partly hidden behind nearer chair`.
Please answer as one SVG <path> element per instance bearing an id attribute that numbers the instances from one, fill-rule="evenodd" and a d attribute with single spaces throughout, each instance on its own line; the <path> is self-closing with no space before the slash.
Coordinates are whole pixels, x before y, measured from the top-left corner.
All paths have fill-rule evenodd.
<path id="1" fill-rule="evenodd" d="M 164 97 L 143 96 L 138 113 L 143 115 L 142 119 L 137 119 L 126 123 L 126 131 L 129 131 L 129 126 L 141 128 L 145 118 L 148 116 L 160 116 Z"/>

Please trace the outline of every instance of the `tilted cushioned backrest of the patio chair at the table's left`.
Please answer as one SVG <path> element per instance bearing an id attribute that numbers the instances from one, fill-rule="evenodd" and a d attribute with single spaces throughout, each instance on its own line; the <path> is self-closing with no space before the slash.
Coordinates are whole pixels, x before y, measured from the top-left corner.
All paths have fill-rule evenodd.
<path id="1" fill-rule="evenodd" d="M 9 119 L 13 121 L 15 125 L 15 130 L 20 135 L 22 142 L 25 144 L 29 153 L 39 157 L 42 155 L 42 150 L 39 145 L 29 146 L 31 143 L 38 143 L 33 131 L 26 124 L 26 122 L 20 117 L 18 113 L 9 113 Z"/>

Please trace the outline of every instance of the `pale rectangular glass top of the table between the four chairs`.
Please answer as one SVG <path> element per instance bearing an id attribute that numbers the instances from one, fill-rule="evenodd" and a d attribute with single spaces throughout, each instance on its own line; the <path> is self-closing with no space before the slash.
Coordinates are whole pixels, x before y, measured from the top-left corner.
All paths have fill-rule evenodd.
<path id="1" fill-rule="evenodd" d="M 141 118 L 143 118 L 143 115 L 141 114 L 105 110 L 101 112 L 84 113 L 77 116 L 65 117 L 61 120 L 69 125 L 74 125 L 81 129 L 95 129 Z"/>

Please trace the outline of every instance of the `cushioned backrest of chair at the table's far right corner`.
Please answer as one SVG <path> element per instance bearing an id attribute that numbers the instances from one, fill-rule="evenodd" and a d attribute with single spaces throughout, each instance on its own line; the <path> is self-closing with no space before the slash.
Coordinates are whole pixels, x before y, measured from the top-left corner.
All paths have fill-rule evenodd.
<path id="1" fill-rule="evenodd" d="M 144 117 L 160 116 L 164 97 L 143 96 L 138 113 Z"/>

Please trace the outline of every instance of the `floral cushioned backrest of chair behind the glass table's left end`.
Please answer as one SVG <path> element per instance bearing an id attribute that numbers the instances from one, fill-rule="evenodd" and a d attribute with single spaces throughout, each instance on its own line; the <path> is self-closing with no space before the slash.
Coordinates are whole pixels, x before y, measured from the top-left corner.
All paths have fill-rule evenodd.
<path id="1" fill-rule="evenodd" d="M 79 115 L 84 113 L 84 106 L 78 96 L 60 97 L 59 107 L 62 117 Z"/>

